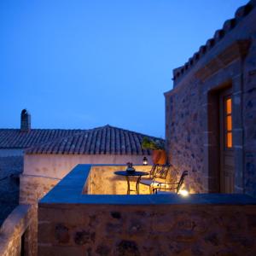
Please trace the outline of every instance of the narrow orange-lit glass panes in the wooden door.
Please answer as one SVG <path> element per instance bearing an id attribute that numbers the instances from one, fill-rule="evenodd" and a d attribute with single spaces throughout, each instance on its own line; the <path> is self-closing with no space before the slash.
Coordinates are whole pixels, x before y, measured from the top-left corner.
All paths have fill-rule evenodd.
<path id="1" fill-rule="evenodd" d="M 232 99 L 231 97 L 225 98 L 224 119 L 225 119 L 225 146 L 232 148 Z"/>

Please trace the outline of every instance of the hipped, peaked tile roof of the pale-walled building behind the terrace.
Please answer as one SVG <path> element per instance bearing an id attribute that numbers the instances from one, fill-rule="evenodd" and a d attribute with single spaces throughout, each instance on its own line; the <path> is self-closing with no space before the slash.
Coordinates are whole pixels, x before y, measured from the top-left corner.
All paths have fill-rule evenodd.
<path id="1" fill-rule="evenodd" d="M 148 136 L 105 125 L 28 148 L 26 154 L 150 154 L 141 147 L 143 137 Z"/>

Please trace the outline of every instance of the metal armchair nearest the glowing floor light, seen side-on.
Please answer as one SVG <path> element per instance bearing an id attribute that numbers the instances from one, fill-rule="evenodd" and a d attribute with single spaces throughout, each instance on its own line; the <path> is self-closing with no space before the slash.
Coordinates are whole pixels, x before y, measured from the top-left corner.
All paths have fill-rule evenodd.
<path id="1" fill-rule="evenodd" d="M 187 176 L 188 176 L 188 171 L 183 171 L 177 183 L 159 183 L 156 187 L 154 187 L 153 193 L 154 194 L 170 194 L 170 193 L 178 194 L 179 190 L 181 189 L 184 183 L 184 179 Z M 172 192 L 169 190 L 174 190 L 175 192 Z"/>

